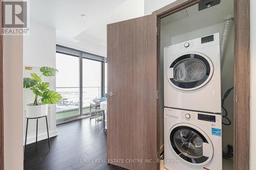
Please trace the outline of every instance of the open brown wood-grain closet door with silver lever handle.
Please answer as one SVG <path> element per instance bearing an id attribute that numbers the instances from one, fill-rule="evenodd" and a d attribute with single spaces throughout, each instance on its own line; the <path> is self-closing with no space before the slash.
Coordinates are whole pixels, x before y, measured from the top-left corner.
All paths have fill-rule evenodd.
<path id="1" fill-rule="evenodd" d="M 128 169 L 155 170 L 156 13 L 108 25 L 107 46 L 108 92 L 116 94 L 108 95 L 108 161 Z"/>

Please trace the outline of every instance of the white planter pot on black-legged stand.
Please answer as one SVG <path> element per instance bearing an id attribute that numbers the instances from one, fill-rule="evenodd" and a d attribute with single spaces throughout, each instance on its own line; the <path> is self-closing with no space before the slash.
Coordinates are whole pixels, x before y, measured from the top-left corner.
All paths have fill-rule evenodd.
<path id="1" fill-rule="evenodd" d="M 38 105 L 28 104 L 27 105 L 27 118 L 42 117 L 48 115 L 48 105 L 39 103 Z"/>

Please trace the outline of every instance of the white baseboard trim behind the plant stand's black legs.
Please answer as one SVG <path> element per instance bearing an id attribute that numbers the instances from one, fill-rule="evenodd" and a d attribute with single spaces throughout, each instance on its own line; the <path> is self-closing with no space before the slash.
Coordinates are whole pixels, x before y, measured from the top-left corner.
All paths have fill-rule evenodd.
<path id="1" fill-rule="evenodd" d="M 57 135 L 58 135 L 57 130 L 49 132 L 49 137 L 50 138 L 54 137 L 54 136 L 57 136 Z M 44 139 L 47 139 L 47 138 L 48 138 L 47 132 L 38 132 L 37 141 L 44 140 Z M 34 143 L 35 140 L 36 140 L 36 134 L 28 135 L 27 144 Z M 23 145 L 25 145 L 25 136 L 24 136 L 24 139 L 23 139 Z"/>

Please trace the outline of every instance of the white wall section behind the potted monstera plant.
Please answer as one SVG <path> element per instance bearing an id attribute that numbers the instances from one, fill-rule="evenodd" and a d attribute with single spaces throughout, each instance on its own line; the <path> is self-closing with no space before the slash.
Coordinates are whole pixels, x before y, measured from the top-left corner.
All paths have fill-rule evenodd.
<path id="1" fill-rule="evenodd" d="M 24 43 L 24 48 L 23 48 L 24 66 L 32 66 L 32 67 L 38 67 L 38 68 L 42 66 L 49 66 L 49 67 L 56 66 L 56 60 L 55 60 L 56 30 L 55 29 L 31 20 L 30 35 L 24 36 L 23 43 Z M 26 70 L 23 69 L 23 72 L 25 71 Z M 28 74 L 26 73 L 26 75 Z M 50 88 L 52 90 L 55 90 L 55 77 L 51 78 L 50 80 L 51 80 Z M 28 91 L 30 90 L 29 89 L 24 90 L 25 96 L 30 95 Z M 26 99 L 27 98 L 25 98 L 25 104 L 27 104 Z M 31 101 L 33 101 L 33 99 Z M 55 105 L 49 105 L 49 106 L 50 106 L 49 134 L 50 134 L 50 137 L 52 137 L 57 135 L 56 110 L 55 110 Z M 25 106 L 25 110 L 26 110 L 26 106 Z M 30 120 L 29 125 L 32 126 L 32 124 L 35 124 L 35 121 Z M 42 124 L 41 126 L 45 126 L 45 124 Z M 29 128 L 31 127 L 29 126 Z M 38 140 L 42 140 L 45 138 L 47 138 L 47 131 L 46 130 L 38 131 Z M 25 141 L 25 136 L 24 136 L 24 141 Z M 28 134 L 27 143 L 31 143 L 31 142 L 35 142 L 35 133 Z"/>

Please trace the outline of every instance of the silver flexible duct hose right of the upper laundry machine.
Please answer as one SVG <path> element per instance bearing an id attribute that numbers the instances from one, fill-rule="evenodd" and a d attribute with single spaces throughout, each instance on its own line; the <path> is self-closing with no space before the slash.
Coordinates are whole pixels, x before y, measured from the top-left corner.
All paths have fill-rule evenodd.
<path id="1" fill-rule="evenodd" d="M 230 30 L 232 28 L 233 20 L 234 20 L 233 17 L 229 17 L 224 20 L 224 28 L 222 31 L 222 37 L 220 42 L 221 69 L 223 67 L 225 56 L 226 56 L 226 48 L 227 48 L 228 38 L 229 38 Z"/>

